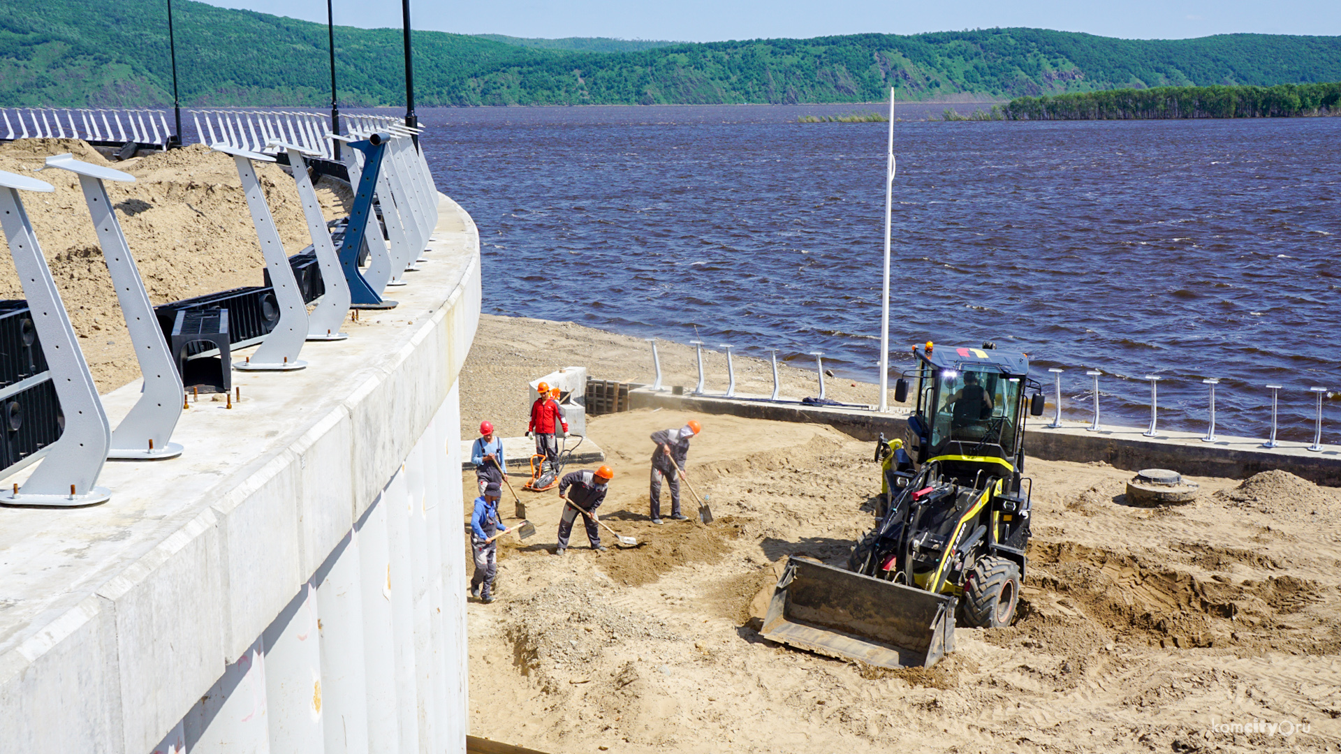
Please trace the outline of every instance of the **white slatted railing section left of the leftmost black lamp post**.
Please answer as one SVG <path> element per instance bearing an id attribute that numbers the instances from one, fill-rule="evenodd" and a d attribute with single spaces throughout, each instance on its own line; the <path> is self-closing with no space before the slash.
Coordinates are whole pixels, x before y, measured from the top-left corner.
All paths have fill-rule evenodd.
<path id="1" fill-rule="evenodd" d="M 172 127 L 165 110 L 122 109 L 0 109 L 4 140 L 82 138 L 98 142 L 137 142 L 168 149 Z"/>

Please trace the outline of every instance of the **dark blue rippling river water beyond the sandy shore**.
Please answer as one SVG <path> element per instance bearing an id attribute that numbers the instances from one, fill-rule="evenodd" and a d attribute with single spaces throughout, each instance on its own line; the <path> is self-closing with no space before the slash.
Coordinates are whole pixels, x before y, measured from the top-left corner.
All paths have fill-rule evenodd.
<path id="1" fill-rule="evenodd" d="M 878 378 L 885 123 L 850 106 L 425 110 L 439 186 L 480 227 L 485 311 L 811 350 Z M 921 118 L 935 109 L 905 109 Z M 1311 441 L 1341 389 L 1341 118 L 896 123 L 896 364 L 996 341 L 1063 408 Z M 1328 402 L 1337 441 L 1341 415 Z"/>

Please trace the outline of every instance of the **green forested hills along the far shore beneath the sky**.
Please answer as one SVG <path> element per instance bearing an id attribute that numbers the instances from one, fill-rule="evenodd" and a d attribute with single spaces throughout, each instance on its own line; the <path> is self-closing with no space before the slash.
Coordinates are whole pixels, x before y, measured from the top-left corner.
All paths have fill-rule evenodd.
<path id="1" fill-rule="evenodd" d="M 0 105 L 170 103 L 164 8 L 162 0 L 0 0 Z M 189 0 L 177 0 L 173 9 L 184 103 L 329 102 L 325 25 Z M 398 21 L 386 19 L 392 27 Z M 335 36 L 343 105 L 404 102 L 400 30 L 338 27 Z M 889 86 L 900 99 L 1007 99 L 1118 87 L 1341 80 L 1341 38 L 1324 36 L 1124 40 L 1003 28 L 590 50 L 599 42 L 544 48 L 535 40 L 416 32 L 416 101 L 872 102 L 884 99 Z M 574 48 L 583 46 L 587 50 Z"/>

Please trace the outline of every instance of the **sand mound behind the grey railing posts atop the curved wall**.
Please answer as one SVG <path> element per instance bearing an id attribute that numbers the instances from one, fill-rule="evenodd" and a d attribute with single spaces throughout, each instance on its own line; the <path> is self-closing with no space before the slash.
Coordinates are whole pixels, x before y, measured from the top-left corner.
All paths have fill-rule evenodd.
<path id="1" fill-rule="evenodd" d="M 261 283 L 264 262 L 232 157 L 192 145 L 109 162 L 79 140 L 32 138 L 0 145 L 0 170 L 34 174 L 47 157 L 63 152 L 135 176 L 133 184 L 106 185 L 156 305 Z M 257 176 L 286 251 L 302 251 L 311 239 L 294 180 L 275 164 L 257 165 Z M 24 207 L 98 388 L 114 389 L 137 378 L 139 369 L 79 178 L 54 169 L 35 177 L 56 191 L 24 192 Z M 347 212 L 347 186 L 323 178 L 318 193 L 329 219 Z M 23 298 L 11 263 L 0 264 L 0 298 Z"/>

